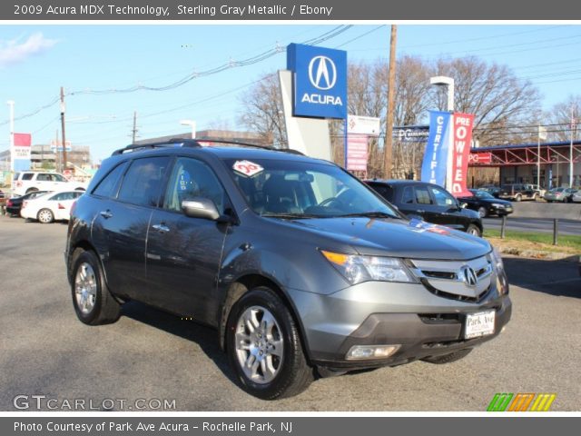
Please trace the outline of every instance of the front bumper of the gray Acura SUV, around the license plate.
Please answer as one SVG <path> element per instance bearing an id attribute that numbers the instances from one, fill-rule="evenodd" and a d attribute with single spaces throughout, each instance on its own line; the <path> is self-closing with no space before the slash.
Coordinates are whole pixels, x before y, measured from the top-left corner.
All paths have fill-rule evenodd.
<path id="1" fill-rule="evenodd" d="M 502 283 L 500 283 L 502 282 Z M 497 289 L 504 287 L 500 294 Z M 310 362 L 336 371 L 396 366 L 472 348 L 495 338 L 510 320 L 503 274 L 479 302 L 435 295 L 422 284 L 364 282 L 330 295 L 291 292 Z M 464 339 L 468 313 L 494 310 L 493 334 Z M 386 359 L 347 360 L 354 345 L 399 345 Z"/>

